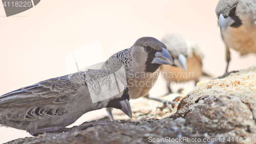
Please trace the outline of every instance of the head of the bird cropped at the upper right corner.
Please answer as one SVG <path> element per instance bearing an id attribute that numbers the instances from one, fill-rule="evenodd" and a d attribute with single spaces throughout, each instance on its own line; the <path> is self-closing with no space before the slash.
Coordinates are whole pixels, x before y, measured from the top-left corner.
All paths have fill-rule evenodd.
<path id="1" fill-rule="evenodd" d="M 239 0 L 219 1 L 216 7 L 216 14 L 221 32 L 224 32 L 228 27 L 239 28 L 242 25 L 240 17 L 246 12 L 245 7 L 247 4 L 245 3 L 245 1 Z"/>

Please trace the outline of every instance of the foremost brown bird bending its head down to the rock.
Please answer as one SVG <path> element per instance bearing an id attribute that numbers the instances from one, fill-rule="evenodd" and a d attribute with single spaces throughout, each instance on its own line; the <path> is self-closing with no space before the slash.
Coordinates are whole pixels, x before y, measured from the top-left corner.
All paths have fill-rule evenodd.
<path id="1" fill-rule="evenodd" d="M 116 89 L 126 81 L 113 73 L 89 69 L 6 93 L 0 97 L 0 124 L 37 135 L 65 131 L 84 113 L 105 107 L 132 117 L 129 88 Z"/>

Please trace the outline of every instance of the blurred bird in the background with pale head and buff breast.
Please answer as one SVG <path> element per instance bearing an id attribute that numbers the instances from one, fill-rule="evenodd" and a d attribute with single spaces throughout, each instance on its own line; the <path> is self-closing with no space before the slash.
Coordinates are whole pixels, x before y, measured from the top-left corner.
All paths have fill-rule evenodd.
<path id="1" fill-rule="evenodd" d="M 169 93 L 172 93 L 170 89 L 172 82 L 195 80 L 197 83 L 200 76 L 208 76 L 202 70 L 204 55 L 195 42 L 187 40 L 179 34 L 166 34 L 161 41 L 174 58 L 174 66 L 163 65 L 164 70 L 162 71 Z"/>

